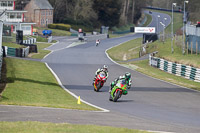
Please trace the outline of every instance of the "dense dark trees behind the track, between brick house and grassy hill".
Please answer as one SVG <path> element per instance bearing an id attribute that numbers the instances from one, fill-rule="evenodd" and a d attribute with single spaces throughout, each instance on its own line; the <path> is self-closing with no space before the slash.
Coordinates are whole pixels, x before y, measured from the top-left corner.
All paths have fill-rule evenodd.
<path id="1" fill-rule="evenodd" d="M 136 23 L 148 1 L 151 0 L 49 0 L 54 22 L 93 27 Z"/>

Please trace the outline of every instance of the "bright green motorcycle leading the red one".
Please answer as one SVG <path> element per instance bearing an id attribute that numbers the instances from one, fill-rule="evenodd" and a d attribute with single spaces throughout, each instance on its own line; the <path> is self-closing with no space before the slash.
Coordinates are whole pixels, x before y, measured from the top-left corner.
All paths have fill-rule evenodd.
<path id="1" fill-rule="evenodd" d="M 113 89 L 110 92 L 109 100 L 116 102 L 122 96 L 122 94 L 124 95 L 127 94 L 126 89 L 127 89 L 126 80 L 125 79 L 118 80 L 117 84 L 113 87 Z"/>

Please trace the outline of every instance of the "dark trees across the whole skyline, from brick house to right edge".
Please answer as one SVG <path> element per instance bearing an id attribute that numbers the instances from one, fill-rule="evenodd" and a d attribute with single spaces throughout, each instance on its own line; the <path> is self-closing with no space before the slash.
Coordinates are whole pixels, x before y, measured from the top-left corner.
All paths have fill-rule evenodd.
<path id="1" fill-rule="evenodd" d="M 30 0 L 17 0 L 16 5 Z M 68 23 L 89 27 L 121 26 L 136 24 L 142 15 L 142 7 L 153 6 L 183 10 L 184 0 L 48 0 L 54 8 L 54 23 Z M 200 21 L 200 1 L 188 0 L 186 11 L 190 21 Z"/>

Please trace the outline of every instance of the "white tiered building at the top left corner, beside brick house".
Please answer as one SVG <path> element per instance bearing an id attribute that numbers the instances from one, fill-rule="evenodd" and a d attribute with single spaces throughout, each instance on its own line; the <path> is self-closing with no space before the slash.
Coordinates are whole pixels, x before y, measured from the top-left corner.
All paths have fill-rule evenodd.
<path id="1" fill-rule="evenodd" d="M 24 13 L 27 11 L 15 10 L 15 1 L 0 0 L 0 14 L 6 10 L 4 25 L 10 25 L 11 32 L 16 33 L 16 30 L 23 30 L 24 35 L 32 35 L 35 23 L 24 23 Z"/>

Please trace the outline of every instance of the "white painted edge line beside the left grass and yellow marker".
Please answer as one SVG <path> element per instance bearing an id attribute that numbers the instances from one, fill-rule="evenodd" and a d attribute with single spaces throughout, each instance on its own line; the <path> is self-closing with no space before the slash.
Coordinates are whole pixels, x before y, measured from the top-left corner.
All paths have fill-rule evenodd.
<path id="1" fill-rule="evenodd" d="M 75 97 L 76 99 L 78 99 L 78 96 L 77 96 L 77 95 L 75 95 L 74 93 L 72 93 L 71 91 L 69 91 L 67 88 L 65 88 L 65 87 L 62 85 L 60 79 L 59 79 L 58 76 L 54 73 L 54 71 L 49 67 L 49 65 L 48 65 L 47 63 L 45 63 L 45 64 L 46 64 L 47 68 L 52 72 L 52 74 L 54 75 L 54 77 L 55 77 L 56 80 L 58 81 L 59 85 L 60 85 L 65 91 L 67 91 L 69 94 L 71 94 L 73 97 Z M 98 106 L 93 105 L 93 104 L 91 104 L 91 103 L 88 103 L 88 102 L 86 102 L 86 101 L 84 101 L 84 100 L 82 100 L 82 99 L 81 99 L 81 102 L 83 102 L 83 103 L 85 103 L 85 104 L 87 104 L 87 105 L 90 105 L 90 106 L 92 106 L 92 107 L 95 107 L 95 108 L 97 108 L 97 109 L 102 110 L 102 111 L 92 111 L 92 112 L 110 112 L 110 111 L 107 110 L 107 109 L 98 107 Z"/>

